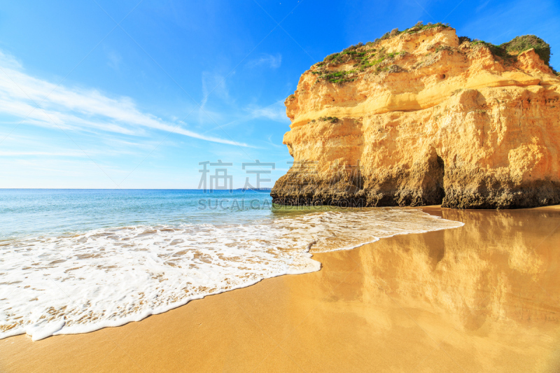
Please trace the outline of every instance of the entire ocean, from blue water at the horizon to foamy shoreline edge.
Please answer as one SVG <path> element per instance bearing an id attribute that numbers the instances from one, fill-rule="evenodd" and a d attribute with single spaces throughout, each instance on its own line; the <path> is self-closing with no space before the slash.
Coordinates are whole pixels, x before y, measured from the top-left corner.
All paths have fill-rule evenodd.
<path id="1" fill-rule="evenodd" d="M 410 208 L 276 206 L 268 191 L 0 190 L 0 339 L 140 321 L 321 269 L 314 252 L 460 227 Z"/>

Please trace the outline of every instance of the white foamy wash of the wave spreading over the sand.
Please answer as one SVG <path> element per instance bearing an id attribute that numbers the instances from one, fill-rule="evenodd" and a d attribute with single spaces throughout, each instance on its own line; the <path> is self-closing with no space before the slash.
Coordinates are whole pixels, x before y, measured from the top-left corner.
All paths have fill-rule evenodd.
<path id="1" fill-rule="evenodd" d="M 461 225 L 414 209 L 364 209 L 3 241 L 0 339 L 91 332 L 269 277 L 314 272 L 321 264 L 311 259 L 311 243 L 311 252 L 342 250 Z"/>

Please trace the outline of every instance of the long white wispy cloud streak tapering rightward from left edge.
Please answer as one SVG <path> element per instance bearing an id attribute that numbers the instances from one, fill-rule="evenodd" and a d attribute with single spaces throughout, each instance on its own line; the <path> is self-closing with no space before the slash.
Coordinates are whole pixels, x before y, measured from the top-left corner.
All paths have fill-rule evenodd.
<path id="1" fill-rule="evenodd" d="M 25 73 L 16 59 L 2 52 L 0 113 L 41 127 L 136 136 L 146 136 L 146 130 L 158 129 L 214 143 L 250 147 L 231 139 L 199 134 L 184 128 L 182 122 L 168 122 L 144 113 L 130 97 L 109 97 L 98 90 L 66 87 L 34 78 Z"/>

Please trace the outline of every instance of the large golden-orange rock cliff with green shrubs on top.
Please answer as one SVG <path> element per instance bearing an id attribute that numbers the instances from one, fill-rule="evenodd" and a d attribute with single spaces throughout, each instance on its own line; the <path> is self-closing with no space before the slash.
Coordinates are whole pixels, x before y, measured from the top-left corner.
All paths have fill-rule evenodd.
<path id="1" fill-rule="evenodd" d="M 274 202 L 559 204 L 560 78 L 538 48 L 461 41 L 413 28 L 311 66 L 286 99 L 294 164 Z"/>

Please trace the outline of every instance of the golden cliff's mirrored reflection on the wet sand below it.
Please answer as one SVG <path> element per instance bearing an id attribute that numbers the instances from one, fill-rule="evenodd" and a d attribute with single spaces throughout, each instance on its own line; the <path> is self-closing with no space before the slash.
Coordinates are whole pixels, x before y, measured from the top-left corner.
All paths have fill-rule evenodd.
<path id="1" fill-rule="evenodd" d="M 465 226 L 360 250 L 364 292 L 379 288 L 430 302 L 454 315 L 463 330 L 486 321 L 558 323 L 559 213 L 444 210 L 442 217 Z"/>

